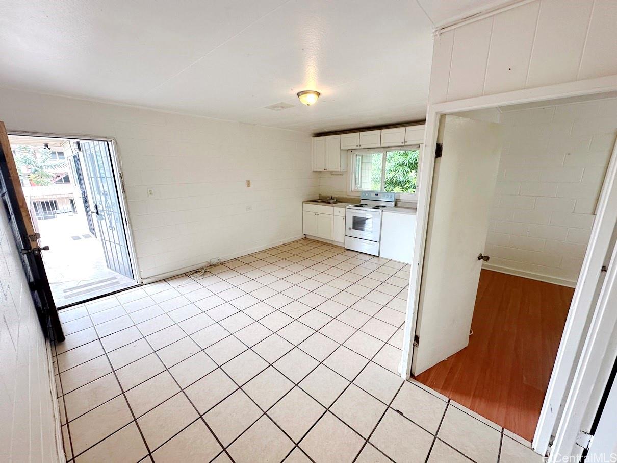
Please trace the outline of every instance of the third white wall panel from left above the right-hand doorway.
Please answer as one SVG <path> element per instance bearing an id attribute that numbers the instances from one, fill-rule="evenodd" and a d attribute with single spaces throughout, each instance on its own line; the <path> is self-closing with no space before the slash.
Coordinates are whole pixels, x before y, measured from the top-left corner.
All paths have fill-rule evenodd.
<path id="1" fill-rule="evenodd" d="M 495 15 L 484 93 L 524 87 L 539 6 L 532 2 Z"/>

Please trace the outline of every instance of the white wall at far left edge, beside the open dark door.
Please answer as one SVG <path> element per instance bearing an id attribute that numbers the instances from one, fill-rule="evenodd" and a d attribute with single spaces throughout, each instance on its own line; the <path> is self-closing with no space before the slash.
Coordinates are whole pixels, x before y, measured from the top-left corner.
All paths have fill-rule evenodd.
<path id="1" fill-rule="evenodd" d="M 50 368 L 48 343 L 0 206 L 0 461 L 60 461 Z"/>

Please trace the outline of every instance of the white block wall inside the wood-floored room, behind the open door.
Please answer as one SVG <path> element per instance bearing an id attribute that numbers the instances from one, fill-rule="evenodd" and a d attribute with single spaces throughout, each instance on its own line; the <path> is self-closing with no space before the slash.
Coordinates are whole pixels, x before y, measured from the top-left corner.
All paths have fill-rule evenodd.
<path id="1" fill-rule="evenodd" d="M 617 99 L 505 111 L 489 269 L 576 285 L 617 134 Z"/>

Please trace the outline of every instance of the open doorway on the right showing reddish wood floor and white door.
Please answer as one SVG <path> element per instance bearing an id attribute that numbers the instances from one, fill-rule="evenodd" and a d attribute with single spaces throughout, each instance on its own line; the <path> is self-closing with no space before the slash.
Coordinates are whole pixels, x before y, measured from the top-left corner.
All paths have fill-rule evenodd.
<path id="1" fill-rule="evenodd" d="M 457 129 L 479 139 L 477 149 Z M 614 156 L 617 99 L 445 116 L 440 133 L 412 372 L 532 440 Z M 499 143 L 487 149 L 491 136 Z M 465 277 L 444 286 L 437 275 L 449 272 Z"/>

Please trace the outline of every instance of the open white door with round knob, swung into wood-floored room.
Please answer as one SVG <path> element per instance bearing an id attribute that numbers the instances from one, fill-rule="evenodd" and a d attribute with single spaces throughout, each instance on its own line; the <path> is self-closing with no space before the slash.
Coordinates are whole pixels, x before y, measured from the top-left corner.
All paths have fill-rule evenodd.
<path id="1" fill-rule="evenodd" d="M 501 155 L 499 124 L 445 116 L 420 282 L 418 375 L 468 344 Z"/>

